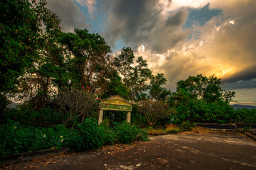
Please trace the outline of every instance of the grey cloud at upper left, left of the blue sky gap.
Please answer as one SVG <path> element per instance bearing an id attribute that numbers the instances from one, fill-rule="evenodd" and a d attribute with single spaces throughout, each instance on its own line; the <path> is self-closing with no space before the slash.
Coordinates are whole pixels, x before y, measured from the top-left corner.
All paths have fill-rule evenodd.
<path id="1" fill-rule="evenodd" d="M 47 7 L 61 19 L 64 32 L 73 32 L 74 28 L 89 28 L 85 22 L 85 14 L 70 0 L 47 0 Z"/>

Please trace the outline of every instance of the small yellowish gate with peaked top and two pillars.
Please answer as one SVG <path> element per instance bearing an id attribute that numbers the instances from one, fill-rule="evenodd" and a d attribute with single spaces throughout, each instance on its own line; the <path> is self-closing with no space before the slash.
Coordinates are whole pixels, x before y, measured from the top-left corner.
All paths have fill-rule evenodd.
<path id="1" fill-rule="evenodd" d="M 132 104 L 119 95 L 105 98 L 105 100 L 100 102 L 100 114 L 98 119 L 99 125 L 100 123 L 102 123 L 103 120 L 103 111 L 126 111 L 126 120 L 127 122 L 131 123 Z"/>

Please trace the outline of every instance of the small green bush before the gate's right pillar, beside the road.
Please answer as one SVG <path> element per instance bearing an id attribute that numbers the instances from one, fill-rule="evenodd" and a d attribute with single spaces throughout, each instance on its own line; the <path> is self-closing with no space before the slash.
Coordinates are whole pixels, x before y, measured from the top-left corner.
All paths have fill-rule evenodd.
<path id="1" fill-rule="evenodd" d="M 135 140 L 148 140 L 147 133 L 145 130 L 142 130 L 136 125 L 131 125 L 127 122 L 121 124 L 114 123 L 113 131 L 117 135 L 117 140 L 126 144 L 130 144 Z"/>

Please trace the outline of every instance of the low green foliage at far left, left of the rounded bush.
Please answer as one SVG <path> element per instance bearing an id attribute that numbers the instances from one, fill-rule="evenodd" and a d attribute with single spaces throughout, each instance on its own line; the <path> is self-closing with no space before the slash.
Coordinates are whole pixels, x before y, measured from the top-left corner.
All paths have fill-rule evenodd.
<path id="1" fill-rule="evenodd" d="M 1 157 L 7 154 L 60 148 L 62 145 L 62 135 L 53 128 L 27 127 L 12 121 L 0 127 Z"/>

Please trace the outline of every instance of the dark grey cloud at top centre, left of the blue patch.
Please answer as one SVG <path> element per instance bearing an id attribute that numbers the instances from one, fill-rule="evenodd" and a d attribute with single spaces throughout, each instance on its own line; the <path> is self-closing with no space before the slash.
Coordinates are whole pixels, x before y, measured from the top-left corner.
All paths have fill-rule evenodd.
<path id="1" fill-rule="evenodd" d="M 122 38 L 127 45 L 137 48 L 144 45 L 153 52 L 166 52 L 188 36 L 180 29 L 188 11 L 180 9 L 162 13 L 159 1 L 114 1 L 107 19 L 106 34 L 111 45 Z"/>

